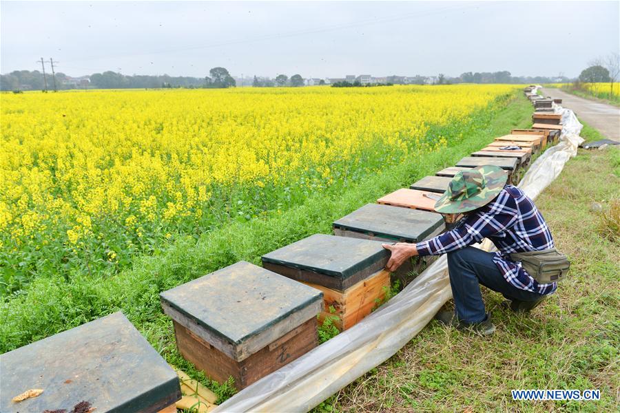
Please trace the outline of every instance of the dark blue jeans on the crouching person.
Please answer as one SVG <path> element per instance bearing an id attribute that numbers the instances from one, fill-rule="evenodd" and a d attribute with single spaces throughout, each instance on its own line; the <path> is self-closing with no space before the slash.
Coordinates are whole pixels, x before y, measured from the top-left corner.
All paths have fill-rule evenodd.
<path id="1" fill-rule="evenodd" d="M 521 290 L 507 282 L 493 262 L 494 255 L 473 246 L 448 253 L 450 286 L 460 321 L 477 323 L 486 319 L 479 284 L 502 293 L 510 300 L 536 301 L 543 297 L 539 293 Z"/>

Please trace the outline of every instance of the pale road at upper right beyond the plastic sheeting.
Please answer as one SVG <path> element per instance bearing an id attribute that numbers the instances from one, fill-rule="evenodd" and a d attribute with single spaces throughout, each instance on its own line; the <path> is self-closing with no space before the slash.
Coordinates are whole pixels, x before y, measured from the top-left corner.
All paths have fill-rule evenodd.
<path id="1" fill-rule="evenodd" d="M 584 122 L 601 132 L 606 138 L 620 142 L 620 107 L 598 103 L 566 93 L 560 89 L 542 89 L 545 96 L 561 98 L 562 106 L 572 109 Z"/>

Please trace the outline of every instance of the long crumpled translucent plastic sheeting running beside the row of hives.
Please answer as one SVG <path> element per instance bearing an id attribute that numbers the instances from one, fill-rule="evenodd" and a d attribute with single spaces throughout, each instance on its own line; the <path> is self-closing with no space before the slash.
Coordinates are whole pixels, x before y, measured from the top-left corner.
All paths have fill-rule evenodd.
<path id="1" fill-rule="evenodd" d="M 582 125 L 569 109 L 559 144 L 547 149 L 519 183 L 530 198 L 550 184 L 577 153 Z M 492 247 L 485 240 L 482 248 Z M 287 366 L 235 394 L 213 412 L 307 412 L 400 350 L 452 298 L 442 256 L 374 313 Z"/>

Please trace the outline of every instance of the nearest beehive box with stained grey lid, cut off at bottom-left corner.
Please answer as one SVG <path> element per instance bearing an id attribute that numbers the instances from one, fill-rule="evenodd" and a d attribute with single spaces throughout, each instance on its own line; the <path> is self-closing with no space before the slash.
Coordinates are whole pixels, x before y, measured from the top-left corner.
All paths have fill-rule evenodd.
<path id="1" fill-rule="evenodd" d="M 13 402 L 25 390 L 40 396 Z M 181 398 L 176 372 L 123 313 L 0 355 L 0 411 L 168 412 Z M 174 409 L 173 411 L 176 411 Z"/>

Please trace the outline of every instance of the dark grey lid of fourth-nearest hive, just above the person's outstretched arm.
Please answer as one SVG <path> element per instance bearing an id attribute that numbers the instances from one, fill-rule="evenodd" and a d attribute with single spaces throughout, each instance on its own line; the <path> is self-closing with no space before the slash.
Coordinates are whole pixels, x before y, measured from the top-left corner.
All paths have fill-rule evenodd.
<path id="1" fill-rule="evenodd" d="M 372 233 L 400 242 L 420 242 L 428 235 L 443 229 L 445 225 L 444 218 L 439 213 L 366 204 L 335 221 L 333 227 Z"/>

